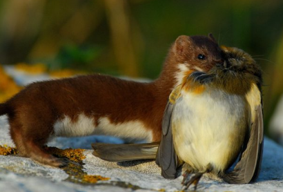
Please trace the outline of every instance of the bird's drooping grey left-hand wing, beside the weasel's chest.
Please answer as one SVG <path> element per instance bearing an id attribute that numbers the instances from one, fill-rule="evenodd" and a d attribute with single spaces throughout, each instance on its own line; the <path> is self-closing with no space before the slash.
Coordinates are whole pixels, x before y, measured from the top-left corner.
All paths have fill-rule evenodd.
<path id="1" fill-rule="evenodd" d="M 181 86 L 177 86 L 168 99 L 162 120 L 162 138 L 156 156 L 156 163 L 162 168 L 162 176 L 167 179 L 177 177 L 178 160 L 173 144 L 171 115 L 180 90 Z"/>

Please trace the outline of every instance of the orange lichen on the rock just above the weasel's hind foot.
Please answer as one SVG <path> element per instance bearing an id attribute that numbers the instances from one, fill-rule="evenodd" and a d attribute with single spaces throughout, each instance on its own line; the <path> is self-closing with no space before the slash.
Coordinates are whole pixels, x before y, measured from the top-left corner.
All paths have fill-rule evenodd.
<path id="1" fill-rule="evenodd" d="M 86 158 L 84 155 L 85 149 L 81 148 L 66 148 L 66 149 L 60 149 L 57 147 L 45 147 L 46 151 L 48 153 L 51 153 L 52 155 L 57 155 L 58 157 L 67 157 L 69 160 L 72 160 L 74 162 L 81 162 Z"/>

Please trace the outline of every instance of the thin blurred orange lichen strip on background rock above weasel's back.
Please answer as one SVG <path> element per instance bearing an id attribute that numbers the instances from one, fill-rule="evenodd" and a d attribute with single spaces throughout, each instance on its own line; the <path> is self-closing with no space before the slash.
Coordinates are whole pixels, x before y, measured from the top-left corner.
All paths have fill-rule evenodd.
<path id="1" fill-rule="evenodd" d="M 23 72 L 30 73 L 30 74 L 33 74 L 33 75 L 46 73 L 46 71 L 47 71 L 47 67 L 44 64 L 29 65 L 29 64 L 25 64 L 25 63 L 19 63 L 19 64 L 16 64 L 14 66 L 14 68 L 16 70 L 21 70 Z"/>

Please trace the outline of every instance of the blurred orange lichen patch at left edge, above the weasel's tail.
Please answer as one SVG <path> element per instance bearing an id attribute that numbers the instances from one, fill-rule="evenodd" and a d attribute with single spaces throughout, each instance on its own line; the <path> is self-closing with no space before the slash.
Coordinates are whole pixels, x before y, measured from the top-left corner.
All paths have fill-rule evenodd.
<path id="1" fill-rule="evenodd" d="M 21 90 L 21 86 L 14 83 L 14 79 L 5 73 L 0 66 L 0 102 L 5 102 L 8 98 Z"/>

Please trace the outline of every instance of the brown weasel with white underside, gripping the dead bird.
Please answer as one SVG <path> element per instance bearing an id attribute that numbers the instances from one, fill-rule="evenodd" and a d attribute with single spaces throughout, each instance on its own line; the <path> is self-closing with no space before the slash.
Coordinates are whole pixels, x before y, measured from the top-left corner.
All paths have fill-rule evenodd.
<path id="1" fill-rule="evenodd" d="M 66 165 L 43 150 L 52 137 L 104 134 L 159 142 L 164 108 L 173 88 L 190 69 L 209 70 L 219 63 L 221 52 L 212 35 L 182 35 L 153 82 L 99 74 L 39 81 L 0 104 L 0 115 L 8 115 L 19 155 L 51 166 Z M 210 60 L 204 62 L 202 54 Z"/>

